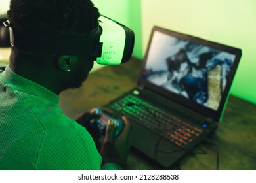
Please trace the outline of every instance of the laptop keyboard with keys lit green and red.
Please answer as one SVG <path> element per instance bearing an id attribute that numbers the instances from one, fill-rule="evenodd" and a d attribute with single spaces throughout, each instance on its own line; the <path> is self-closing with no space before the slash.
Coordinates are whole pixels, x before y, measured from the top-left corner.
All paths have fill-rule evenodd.
<path id="1" fill-rule="evenodd" d="M 135 122 L 182 148 L 202 133 L 200 128 L 160 110 L 135 95 L 127 95 L 119 99 L 110 105 L 110 108 L 117 113 L 128 114 L 135 119 Z"/>

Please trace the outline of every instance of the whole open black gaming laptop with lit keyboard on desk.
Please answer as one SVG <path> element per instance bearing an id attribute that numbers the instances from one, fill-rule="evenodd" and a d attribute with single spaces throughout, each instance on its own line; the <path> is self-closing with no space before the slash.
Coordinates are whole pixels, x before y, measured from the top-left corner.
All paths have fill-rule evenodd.
<path id="1" fill-rule="evenodd" d="M 167 168 L 221 122 L 242 50 L 154 27 L 137 87 L 110 101 L 131 145 Z"/>

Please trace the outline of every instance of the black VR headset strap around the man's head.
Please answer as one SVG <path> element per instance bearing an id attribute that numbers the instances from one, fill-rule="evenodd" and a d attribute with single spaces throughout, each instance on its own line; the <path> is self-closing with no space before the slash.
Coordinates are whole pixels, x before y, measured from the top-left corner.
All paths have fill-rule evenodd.
<path id="1" fill-rule="evenodd" d="M 47 37 L 14 33 L 9 20 L 5 21 L 4 25 L 9 27 L 11 45 L 20 50 L 53 54 L 101 56 L 102 42 L 99 41 L 102 29 L 100 26 L 93 29 L 87 37 Z"/>

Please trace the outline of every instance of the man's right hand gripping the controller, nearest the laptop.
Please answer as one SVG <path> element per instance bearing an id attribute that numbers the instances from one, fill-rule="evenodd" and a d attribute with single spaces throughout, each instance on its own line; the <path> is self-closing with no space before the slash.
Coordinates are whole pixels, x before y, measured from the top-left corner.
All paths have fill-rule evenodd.
<path id="1" fill-rule="evenodd" d="M 106 135 L 100 154 L 104 163 L 116 163 L 117 165 L 123 167 L 125 165 L 127 156 L 129 154 L 130 144 L 129 136 L 131 133 L 131 124 L 122 116 L 121 120 L 124 123 L 123 131 L 115 139 L 115 126 L 112 120 L 108 121 L 108 126 L 106 128 Z"/>

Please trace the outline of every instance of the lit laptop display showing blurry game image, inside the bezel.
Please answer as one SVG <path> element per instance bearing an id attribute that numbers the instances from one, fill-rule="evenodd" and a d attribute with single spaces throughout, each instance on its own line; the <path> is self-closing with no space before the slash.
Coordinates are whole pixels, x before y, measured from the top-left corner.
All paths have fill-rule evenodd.
<path id="1" fill-rule="evenodd" d="M 153 39 L 156 37 L 161 40 L 161 46 L 152 44 L 150 50 L 154 53 L 149 51 L 144 78 L 165 90 L 217 110 L 234 54 L 163 33 L 156 33 Z"/>

